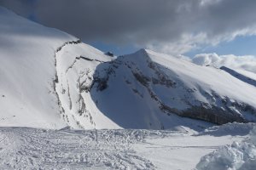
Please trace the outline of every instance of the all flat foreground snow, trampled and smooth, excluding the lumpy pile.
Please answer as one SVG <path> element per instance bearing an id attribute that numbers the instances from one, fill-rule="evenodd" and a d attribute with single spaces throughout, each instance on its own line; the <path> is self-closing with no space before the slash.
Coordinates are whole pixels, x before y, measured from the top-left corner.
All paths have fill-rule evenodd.
<path id="1" fill-rule="evenodd" d="M 1 127 L 0 168 L 193 169 L 202 156 L 246 139 L 253 124 L 235 126 L 241 129 L 241 135 L 230 135 L 229 128 L 221 127 L 219 133 L 195 133 L 189 128 L 182 133 Z"/>

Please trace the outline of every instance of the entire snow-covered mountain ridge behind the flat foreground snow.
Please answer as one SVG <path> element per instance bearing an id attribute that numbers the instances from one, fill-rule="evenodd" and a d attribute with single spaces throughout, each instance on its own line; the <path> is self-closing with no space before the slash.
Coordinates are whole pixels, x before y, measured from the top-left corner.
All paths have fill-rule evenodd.
<path id="1" fill-rule="evenodd" d="M 174 128 L 254 122 L 256 88 L 213 67 L 139 50 L 111 57 L 0 8 L 1 126 Z M 189 117 L 189 118 L 184 118 Z"/>

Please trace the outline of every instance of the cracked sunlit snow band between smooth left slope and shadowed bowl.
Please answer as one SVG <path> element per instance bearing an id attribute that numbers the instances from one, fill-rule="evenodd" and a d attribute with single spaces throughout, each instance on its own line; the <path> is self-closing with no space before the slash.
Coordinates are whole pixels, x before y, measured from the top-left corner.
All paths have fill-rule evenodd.
<path id="1" fill-rule="evenodd" d="M 61 105 L 61 118 L 75 128 L 120 128 L 97 109 L 90 97 L 96 66 L 114 58 L 77 42 L 59 48 L 55 57 L 55 90 Z"/>

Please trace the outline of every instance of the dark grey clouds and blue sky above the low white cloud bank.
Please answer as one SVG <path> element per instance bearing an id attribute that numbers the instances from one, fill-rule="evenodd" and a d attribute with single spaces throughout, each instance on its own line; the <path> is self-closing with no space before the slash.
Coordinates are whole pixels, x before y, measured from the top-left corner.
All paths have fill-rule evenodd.
<path id="1" fill-rule="evenodd" d="M 256 55 L 255 0 L 0 0 L 103 51 Z"/>

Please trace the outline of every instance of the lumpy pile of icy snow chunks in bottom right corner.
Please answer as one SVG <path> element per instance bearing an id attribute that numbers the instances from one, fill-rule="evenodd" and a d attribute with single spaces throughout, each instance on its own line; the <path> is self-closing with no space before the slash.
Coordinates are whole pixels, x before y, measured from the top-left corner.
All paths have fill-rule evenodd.
<path id="1" fill-rule="evenodd" d="M 252 124 L 251 124 L 252 125 Z M 230 126 L 228 127 L 237 127 Z M 249 126 L 249 128 L 252 126 Z M 241 130 L 233 128 L 234 132 Z M 245 128 L 244 128 L 245 130 Z M 254 170 L 256 169 L 256 127 L 250 131 L 248 139 L 233 144 L 224 145 L 203 156 L 197 164 L 198 170 Z"/>

